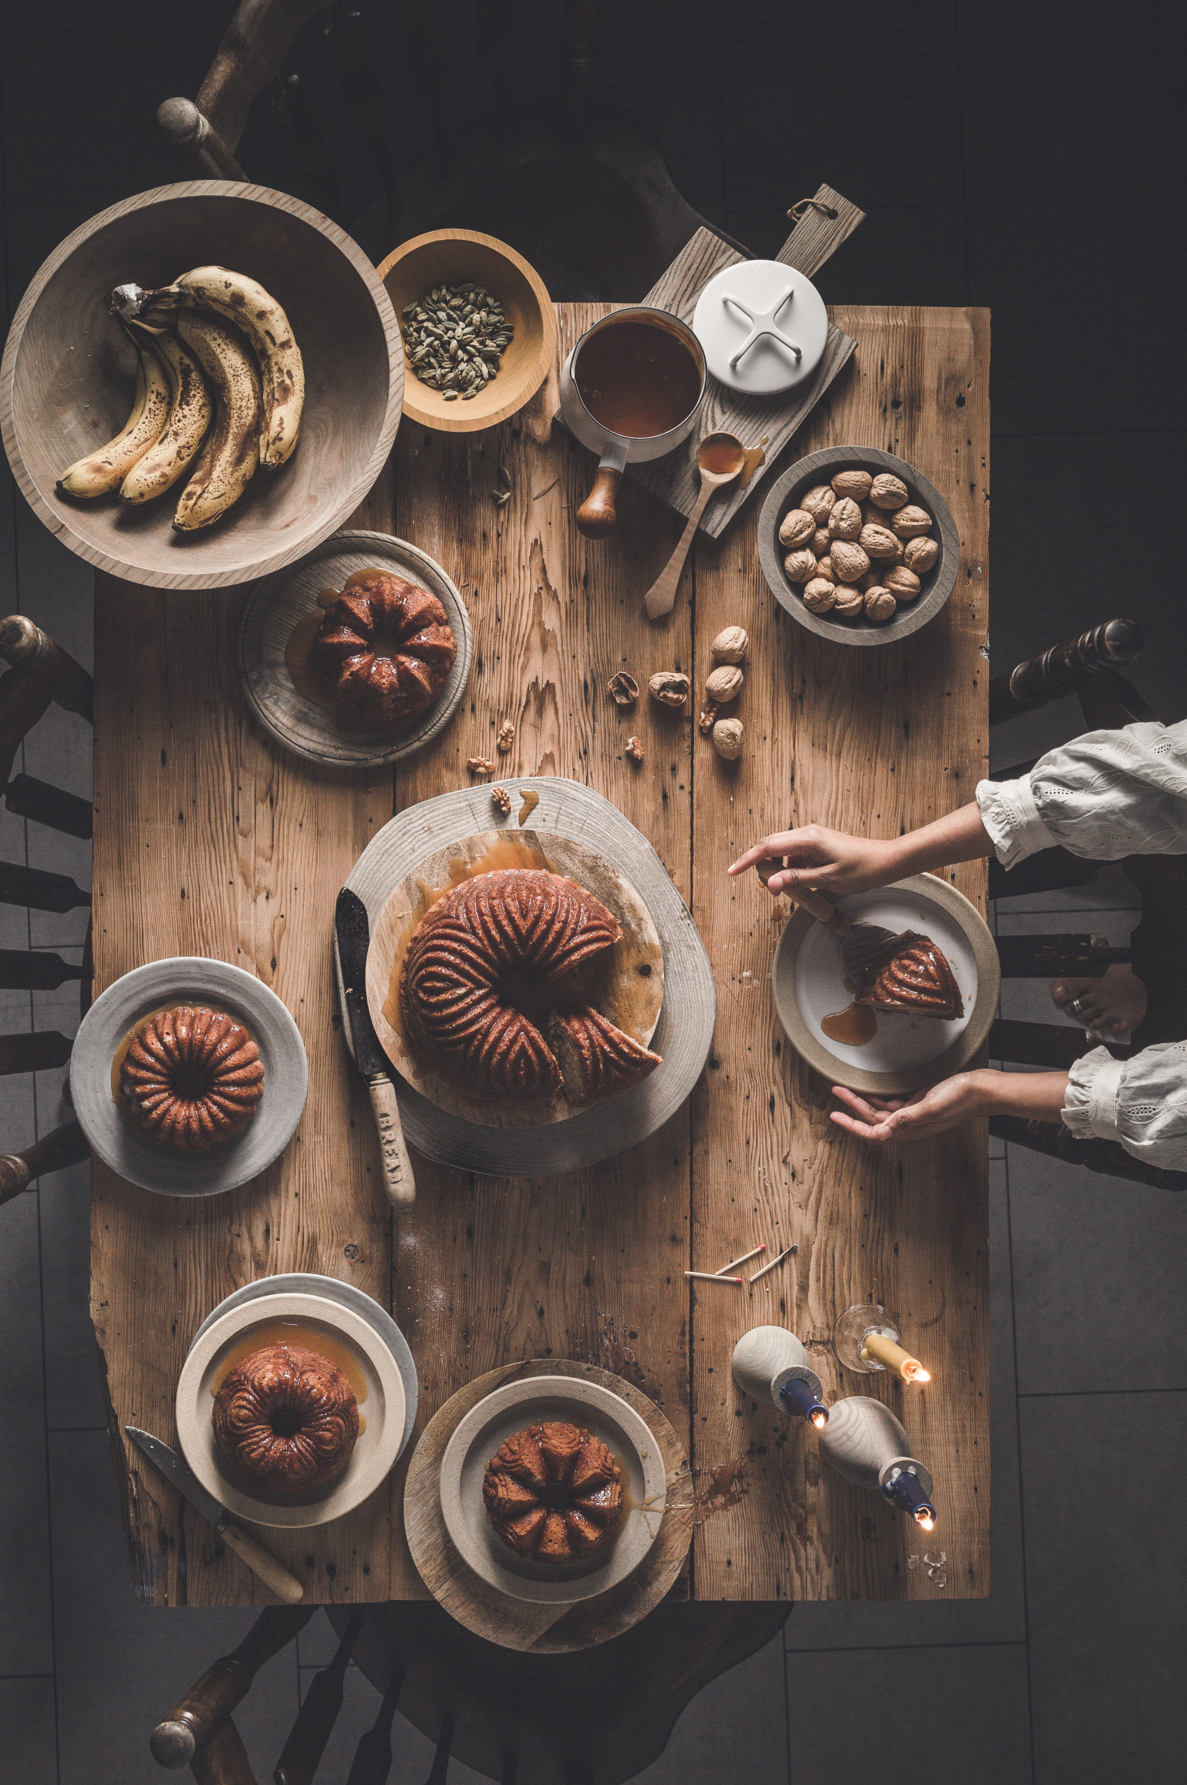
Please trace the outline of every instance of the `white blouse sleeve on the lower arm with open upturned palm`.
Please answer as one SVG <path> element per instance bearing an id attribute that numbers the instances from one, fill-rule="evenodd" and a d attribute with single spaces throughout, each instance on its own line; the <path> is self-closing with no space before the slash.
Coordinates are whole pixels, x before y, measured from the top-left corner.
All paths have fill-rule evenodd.
<path id="1" fill-rule="evenodd" d="M 1064 1121 L 1080 1141 L 1119 1141 L 1150 1166 L 1187 1171 L 1187 1041 L 1130 1060 L 1092 1048 L 1067 1075 Z"/>

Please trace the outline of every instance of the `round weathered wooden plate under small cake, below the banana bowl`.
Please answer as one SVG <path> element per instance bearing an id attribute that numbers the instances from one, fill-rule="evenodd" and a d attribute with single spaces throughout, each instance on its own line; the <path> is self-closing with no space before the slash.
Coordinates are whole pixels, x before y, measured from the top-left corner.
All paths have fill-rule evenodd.
<path id="1" fill-rule="evenodd" d="M 346 577 L 371 566 L 396 571 L 437 596 L 457 639 L 457 659 L 437 700 L 398 737 L 343 737 L 332 710 L 296 691 L 284 652 L 298 619 L 316 609 L 321 589 L 341 589 Z M 361 768 L 411 757 L 444 730 L 466 693 L 473 653 L 466 603 L 436 559 L 391 534 L 346 532 L 334 534 L 295 569 L 261 582 L 243 609 L 236 660 L 257 719 L 286 750 L 311 762 Z"/>

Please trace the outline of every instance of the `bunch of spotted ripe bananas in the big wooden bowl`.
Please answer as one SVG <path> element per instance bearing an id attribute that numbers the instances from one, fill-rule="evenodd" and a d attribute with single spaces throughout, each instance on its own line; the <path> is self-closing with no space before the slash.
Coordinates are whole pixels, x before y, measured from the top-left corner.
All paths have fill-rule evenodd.
<path id="1" fill-rule="evenodd" d="M 289 320 L 262 286 L 225 266 L 198 266 L 161 291 L 116 286 L 111 309 L 137 353 L 132 414 L 57 487 L 70 496 L 118 489 L 139 503 L 191 471 L 173 527 L 211 527 L 257 466 L 280 466 L 296 450 L 305 368 Z"/>

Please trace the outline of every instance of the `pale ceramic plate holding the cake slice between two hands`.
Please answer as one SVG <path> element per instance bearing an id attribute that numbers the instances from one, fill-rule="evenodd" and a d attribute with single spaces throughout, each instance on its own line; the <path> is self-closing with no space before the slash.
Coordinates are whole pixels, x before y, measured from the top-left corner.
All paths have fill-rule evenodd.
<path id="1" fill-rule="evenodd" d="M 796 907 L 784 926 L 771 975 L 775 1009 L 787 1039 L 814 1071 L 851 1091 L 900 1096 L 960 1071 L 989 1035 L 1001 971 L 984 917 L 962 892 L 934 875 L 912 875 L 876 892 L 859 892 L 839 907 L 855 923 L 919 930 L 948 957 L 964 994 L 964 1016 L 934 1017 L 878 1012 L 878 1030 L 860 1048 L 832 1041 L 821 1019 L 844 1010 L 841 942 Z"/>

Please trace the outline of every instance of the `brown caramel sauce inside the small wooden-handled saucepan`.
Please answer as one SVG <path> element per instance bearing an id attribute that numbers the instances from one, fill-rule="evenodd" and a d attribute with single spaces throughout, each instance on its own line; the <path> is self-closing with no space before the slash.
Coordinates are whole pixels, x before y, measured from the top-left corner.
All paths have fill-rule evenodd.
<path id="1" fill-rule="evenodd" d="M 628 439 L 680 427 L 701 394 L 701 369 L 659 321 L 610 321 L 596 328 L 573 366 L 580 400 L 594 421 Z"/>

